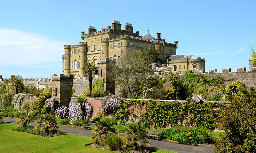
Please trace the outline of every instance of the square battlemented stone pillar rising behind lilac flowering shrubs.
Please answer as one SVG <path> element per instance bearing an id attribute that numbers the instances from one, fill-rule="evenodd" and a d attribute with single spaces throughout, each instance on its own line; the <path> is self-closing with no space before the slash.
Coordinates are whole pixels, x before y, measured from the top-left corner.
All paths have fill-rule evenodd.
<path id="1" fill-rule="evenodd" d="M 52 97 L 60 101 L 60 106 L 69 106 L 69 99 L 72 97 L 73 74 L 52 75 Z"/>

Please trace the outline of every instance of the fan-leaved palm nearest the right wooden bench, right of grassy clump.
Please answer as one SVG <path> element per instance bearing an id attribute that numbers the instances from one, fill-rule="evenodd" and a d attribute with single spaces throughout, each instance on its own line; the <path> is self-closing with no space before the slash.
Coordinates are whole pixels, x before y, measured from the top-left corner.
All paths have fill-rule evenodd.
<path id="1" fill-rule="evenodd" d="M 138 144 L 140 145 L 140 140 L 142 140 L 142 143 L 144 144 L 149 144 L 147 140 L 148 130 L 144 127 L 142 123 L 128 124 L 125 133 L 127 140 L 133 143 L 133 150 L 138 149 Z"/>

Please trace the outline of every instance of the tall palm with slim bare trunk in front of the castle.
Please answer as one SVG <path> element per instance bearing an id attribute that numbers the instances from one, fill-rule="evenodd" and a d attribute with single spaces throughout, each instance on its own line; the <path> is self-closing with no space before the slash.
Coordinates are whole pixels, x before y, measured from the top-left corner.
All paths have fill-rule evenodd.
<path id="1" fill-rule="evenodd" d="M 83 73 L 88 74 L 90 97 L 92 97 L 92 74 L 99 74 L 99 68 L 92 63 L 86 63 L 83 67 Z"/>

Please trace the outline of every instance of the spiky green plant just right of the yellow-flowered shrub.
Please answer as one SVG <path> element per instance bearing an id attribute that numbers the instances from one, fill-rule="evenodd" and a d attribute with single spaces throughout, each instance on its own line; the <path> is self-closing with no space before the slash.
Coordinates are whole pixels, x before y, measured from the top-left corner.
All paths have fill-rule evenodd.
<path id="1" fill-rule="evenodd" d="M 207 128 L 204 128 L 204 127 L 201 127 L 201 128 L 198 128 L 198 132 L 199 132 L 200 138 L 202 139 L 203 142 L 208 143 L 208 144 L 216 142 L 216 139 L 212 135 L 211 130 L 209 130 Z"/>

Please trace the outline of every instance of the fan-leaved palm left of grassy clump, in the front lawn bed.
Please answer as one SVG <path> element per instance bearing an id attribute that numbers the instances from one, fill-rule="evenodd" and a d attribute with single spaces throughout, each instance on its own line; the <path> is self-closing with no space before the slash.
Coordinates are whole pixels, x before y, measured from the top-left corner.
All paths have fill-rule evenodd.
<path id="1" fill-rule="evenodd" d="M 91 132 L 91 140 L 94 143 L 103 142 L 110 133 L 116 133 L 113 122 L 108 118 L 102 118 L 95 122 L 95 127 Z"/>

